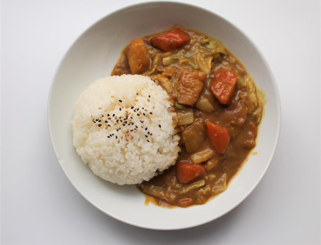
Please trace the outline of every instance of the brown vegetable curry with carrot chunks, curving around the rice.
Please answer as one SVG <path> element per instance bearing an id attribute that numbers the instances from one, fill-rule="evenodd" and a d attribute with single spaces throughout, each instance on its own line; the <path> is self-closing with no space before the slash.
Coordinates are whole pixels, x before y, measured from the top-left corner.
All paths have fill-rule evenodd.
<path id="1" fill-rule="evenodd" d="M 203 204 L 226 189 L 255 146 L 262 103 L 240 61 L 216 39 L 174 27 L 134 39 L 111 75 L 147 75 L 178 115 L 176 164 L 138 184 L 160 206 Z"/>

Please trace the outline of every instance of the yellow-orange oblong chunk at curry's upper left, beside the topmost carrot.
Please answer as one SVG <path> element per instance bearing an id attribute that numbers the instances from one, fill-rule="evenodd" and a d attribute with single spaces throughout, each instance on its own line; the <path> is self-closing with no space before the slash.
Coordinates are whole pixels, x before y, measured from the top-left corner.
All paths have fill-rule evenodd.
<path id="1" fill-rule="evenodd" d="M 142 39 L 133 39 L 126 51 L 131 74 L 142 74 L 150 67 L 150 58 Z"/>

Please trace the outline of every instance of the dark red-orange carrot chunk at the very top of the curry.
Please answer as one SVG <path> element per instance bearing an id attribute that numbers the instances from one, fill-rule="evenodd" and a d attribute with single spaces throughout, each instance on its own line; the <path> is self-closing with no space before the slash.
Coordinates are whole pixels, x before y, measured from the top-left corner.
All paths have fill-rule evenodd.
<path id="1" fill-rule="evenodd" d="M 190 36 L 178 27 L 150 39 L 152 46 L 164 52 L 178 49 L 187 42 L 190 42 Z"/>

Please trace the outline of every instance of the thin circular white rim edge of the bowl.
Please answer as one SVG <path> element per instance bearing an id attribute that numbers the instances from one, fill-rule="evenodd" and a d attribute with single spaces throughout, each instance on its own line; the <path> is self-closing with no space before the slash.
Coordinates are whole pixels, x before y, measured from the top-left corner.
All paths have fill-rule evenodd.
<path id="1" fill-rule="evenodd" d="M 175 228 L 166 228 L 166 227 L 148 227 L 146 225 L 140 225 L 137 223 L 133 223 L 133 222 L 128 222 L 128 220 L 124 220 L 123 218 L 119 218 L 117 215 L 114 215 L 112 213 L 109 213 L 107 211 L 105 211 L 103 208 L 101 208 L 100 206 L 96 205 L 92 200 L 87 199 L 87 197 L 78 189 L 78 187 L 75 186 L 75 183 L 71 180 L 70 176 L 66 174 L 65 168 L 63 167 L 63 164 L 61 164 L 61 161 L 58 158 L 58 146 L 56 146 L 56 144 L 54 143 L 54 136 L 53 136 L 53 132 L 52 132 L 52 117 L 51 117 L 51 108 L 52 108 L 52 90 L 54 88 L 55 85 L 55 80 L 57 77 L 57 74 L 59 73 L 59 70 L 61 69 L 61 65 L 63 63 L 63 61 L 66 59 L 66 57 L 68 56 L 69 52 L 71 51 L 71 49 L 73 49 L 73 46 L 76 44 L 76 42 L 78 42 L 79 39 L 81 39 L 81 37 L 83 37 L 83 35 L 90 30 L 92 27 L 94 27 L 95 25 L 97 25 L 97 23 L 101 22 L 102 20 L 104 20 L 105 18 L 110 18 L 112 15 L 117 15 L 119 13 L 123 13 L 126 12 L 128 10 L 134 9 L 134 8 L 142 8 L 144 6 L 157 6 L 157 5 L 164 5 L 164 6 L 184 6 L 184 7 L 188 7 L 188 8 L 195 8 L 198 11 L 205 11 L 211 15 L 215 15 L 217 18 L 220 18 L 222 20 L 224 20 L 224 22 L 228 23 L 229 25 L 231 25 L 231 27 L 234 27 L 236 30 L 238 30 L 239 32 L 241 32 L 243 34 L 244 37 L 246 37 L 246 39 L 248 39 L 248 42 L 250 42 L 250 44 L 255 48 L 255 50 L 258 52 L 258 54 L 260 55 L 260 58 L 262 58 L 262 62 L 265 65 L 265 68 L 267 69 L 267 72 L 269 73 L 269 75 L 271 76 L 271 81 L 272 82 L 272 87 L 274 89 L 274 95 L 276 96 L 276 103 L 277 103 L 277 132 L 276 132 L 276 137 L 274 139 L 273 142 L 273 147 L 272 147 L 272 151 L 269 153 L 269 159 L 267 161 L 267 164 L 265 165 L 265 169 L 261 172 L 260 177 L 258 177 L 258 180 L 255 182 L 255 184 L 253 184 L 253 186 L 248 189 L 248 191 L 246 192 L 246 194 L 243 195 L 243 198 L 239 199 L 236 203 L 234 203 L 233 206 L 231 206 L 231 208 L 227 209 L 226 211 L 222 212 L 220 215 L 215 216 L 214 218 L 210 218 L 208 220 L 205 220 L 203 222 L 198 222 L 198 223 L 193 223 L 190 225 L 184 225 L 181 227 L 175 227 Z M 65 53 L 63 54 L 61 60 L 59 61 L 56 70 L 54 72 L 54 75 L 52 77 L 52 81 L 51 81 L 51 85 L 49 88 L 49 95 L 48 95 L 48 100 L 47 100 L 47 125 L 48 125 L 48 130 L 49 130 L 49 137 L 52 143 L 52 147 L 54 149 L 54 153 L 56 155 L 57 160 L 59 161 L 59 165 L 61 166 L 64 174 L 66 175 L 66 177 L 68 178 L 69 182 L 71 182 L 71 184 L 73 185 L 73 187 L 78 191 L 78 193 L 83 196 L 83 198 L 85 200 L 87 200 L 89 203 L 92 204 L 92 206 L 95 206 L 95 208 L 97 208 L 99 211 L 102 211 L 102 213 L 105 213 L 107 215 L 109 215 L 111 218 L 114 218 L 116 220 L 119 220 L 121 222 L 124 222 L 128 225 L 133 225 L 135 227 L 141 227 L 141 228 L 145 228 L 148 230 L 183 230 L 183 229 L 188 229 L 191 227 L 197 227 L 199 225 L 204 225 L 208 222 L 212 222 L 213 220 L 217 220 L 218 218 L 221 218 L 223 215 L 225 215 L 226 213 L 229 213 L 230 211 L 232 211 L 234 208 L 236 208 L 238 205 L 240 205 L 240 203 L 242 203 L 252 192 L 253 190 L 258 186 L 258 184 L 260 183 L 260 181 L 262 180 L 262 177 L 264 177 L 265 173 L 267 172 L 267 169 L 269 168 L 269 165 L 272 163 L 272 159 L 274 158 L 274 154 L 275 151 L 277 150 L 277 146 L 279 143 L 279 135 L 280 135 L 280 129 L 281 129 L 281 101 L 279 98 L 279 90 L 277 87 L 277 82 L 275 81 L 274 75 L 272 73 L 272 69 L 270 68 L 269 64 L 267 63 L 267 60 L 265 58 L 265 56 L 263 56 L 262 52 L 260 51 L 260 49 L 258 48 L 258 46 L 255 44 L 255 42 L 253 42 L 252 39 L 250 39 L 250 37 L 248 37 L 248 34 L 246 34 L 246 32 L 244 32 L 241 27 L 238 27 L 236 25 L 234 25 L 234 23 L 231 23 L 229 20 L 227 20 L 226 18 L 222 17 L 222 15 L 219 15 L 218 13 L 214 13 L 213 11 L 209 11 L 205 8 L 202 8 L 200 6 L 196 6 L 194 4 L 186 4 L 186 3 L 182 3 L 182 2 L 176 2 L 176 1 L 146 1 L 140 4 L 132 4 L 129 6 L 125 6 L 123 8 L 119 8 L 116 9 L 116 11 L 112 11 L 111 13 L 102 16 L 102 18 L 99 18 L 98 20 L 96 20 L 94 23 L 92 23 L 91 25 L 87 26 L 85 28 L 85 30 L 83 30 L 83 32 L 81 32 L 78 37 L 73 40 L 72 44 L 70 46 L 68 46 L 68 49 L 66 49 Z"/>

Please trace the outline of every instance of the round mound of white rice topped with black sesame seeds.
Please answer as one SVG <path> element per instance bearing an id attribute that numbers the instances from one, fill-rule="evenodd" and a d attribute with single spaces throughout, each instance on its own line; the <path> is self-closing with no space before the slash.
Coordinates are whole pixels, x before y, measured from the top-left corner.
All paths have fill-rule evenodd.
<path id="1" fill-rule="evenodd" d="M 176 162 L 176 122 L 168 94 L 149 77 L 105 77 L 80 94 L 73 145 L 95 175 L 138 184 Z"/>

